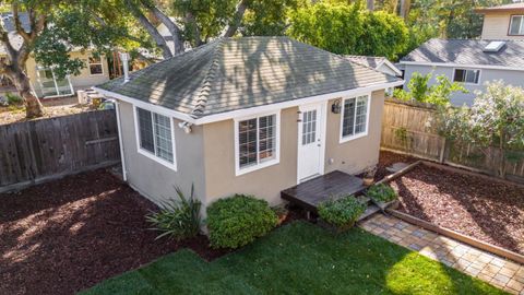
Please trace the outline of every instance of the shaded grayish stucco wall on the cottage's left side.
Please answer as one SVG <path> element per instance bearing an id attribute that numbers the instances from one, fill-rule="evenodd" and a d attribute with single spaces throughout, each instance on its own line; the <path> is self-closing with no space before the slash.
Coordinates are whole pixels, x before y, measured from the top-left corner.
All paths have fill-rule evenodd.
<path id="1" fill-rule="evenodd" d="M 179 120 L 175 120 L 178 166 L 175 172 L 138 152 L 133 106 L 119 102 L 119 109 L 128 182 L 157 204 L 176 198 L 176 186 L 189 194 L 191 184 L 194 184 L 196 197 L 204 201 L 203 127 L 193 126 L 192 132 L 187 134 L 178 128 Z"/>

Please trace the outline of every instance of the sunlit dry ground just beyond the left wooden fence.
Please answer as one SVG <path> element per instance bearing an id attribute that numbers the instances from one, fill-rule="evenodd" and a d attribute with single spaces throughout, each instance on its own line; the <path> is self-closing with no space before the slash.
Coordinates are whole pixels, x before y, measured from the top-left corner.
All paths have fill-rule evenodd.
<path id="1" fill-rule="evenodd" d="M 52 118 L 72 114 L 79 114 L 92 110 L 90 105 L 79 105 L 76 96 L 41 99 L 44 105 L 44 117 Z M 0 125 L 25 121 L 25 108 L 21 107 L 0 107 Z"/>

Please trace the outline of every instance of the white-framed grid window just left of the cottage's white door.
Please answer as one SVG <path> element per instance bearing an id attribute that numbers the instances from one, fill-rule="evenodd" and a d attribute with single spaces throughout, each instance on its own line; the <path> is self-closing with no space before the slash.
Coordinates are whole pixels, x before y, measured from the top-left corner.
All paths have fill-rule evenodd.
<path id="1" fill-rule="evenodd" d="M 237 175 L 278 163 L 279 114 L 235 121 Z"/>

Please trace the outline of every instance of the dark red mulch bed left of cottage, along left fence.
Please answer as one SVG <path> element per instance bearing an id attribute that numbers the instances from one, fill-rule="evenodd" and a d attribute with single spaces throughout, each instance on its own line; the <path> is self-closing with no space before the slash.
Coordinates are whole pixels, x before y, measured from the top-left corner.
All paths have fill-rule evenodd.
<path id="1" fill-rule="evenodd" d="M 73 294 L 183 247 L 225 253 L 205 236 L 155 240 L 155 209 L 104 169 L 0 193 L 0 294 Z"/>

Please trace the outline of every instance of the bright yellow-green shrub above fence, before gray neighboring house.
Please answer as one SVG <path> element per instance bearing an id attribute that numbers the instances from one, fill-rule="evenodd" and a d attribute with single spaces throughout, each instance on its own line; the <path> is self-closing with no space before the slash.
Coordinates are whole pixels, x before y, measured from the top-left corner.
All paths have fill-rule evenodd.
<path id="1" fill-rule="evenodd" d="M 450 104 L 450 97 L 455 92 L 467 93 L 468 91 L 457 82 L 451 82 L 445 75 L 438 75 L 436 83 L 429 86 L 429 81 L 432 74 L 420 74 L 415 72 L 407 88 L 409 92 L 398 90 L 394 92 L 394 96 L 402 101 L 416 101 L 420 103 L 428 103 L 438 106 L 445 106 Z"/>

